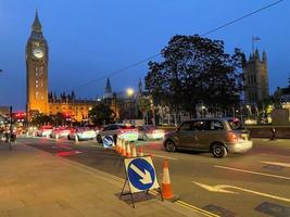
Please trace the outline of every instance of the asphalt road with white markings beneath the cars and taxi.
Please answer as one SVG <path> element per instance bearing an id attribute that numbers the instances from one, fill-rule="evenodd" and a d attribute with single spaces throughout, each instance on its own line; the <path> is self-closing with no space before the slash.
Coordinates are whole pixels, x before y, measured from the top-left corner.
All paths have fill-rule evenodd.
<path id="1" fill-rule="evenodd" d="M 245 154 L 215 158 L 210 153 L 167 153 L 161 141 L 138 141 L 153 156 L 162 181 L 164 158 L 169 162 L 171 180 L 181 203 L 218 216 L 290 216 L 290 140 L 254 139 Z M 96 141 L 58 141 L 22 138 L 25 143 L 125 178 L 123 157 Z"/>

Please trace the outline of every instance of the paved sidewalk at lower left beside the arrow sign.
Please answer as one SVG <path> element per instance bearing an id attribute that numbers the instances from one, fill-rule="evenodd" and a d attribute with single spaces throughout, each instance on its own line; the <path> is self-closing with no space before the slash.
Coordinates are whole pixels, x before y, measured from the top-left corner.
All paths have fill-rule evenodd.
<path id="1" fill-rule="evenodd" d="M 16 144 L 0 143 L 0 217 L 200 216 L 146 194 L 119 200 L 123 182 L 91 167 Z"/>

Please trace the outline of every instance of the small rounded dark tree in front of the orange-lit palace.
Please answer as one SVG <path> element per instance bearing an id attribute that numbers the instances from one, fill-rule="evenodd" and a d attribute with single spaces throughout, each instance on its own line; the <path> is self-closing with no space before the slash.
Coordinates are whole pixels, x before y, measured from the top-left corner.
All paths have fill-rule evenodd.
<path id="1" fill-rule="evenodd" d="M 97 104 L 89 111 L 89 118 L 94 125 L 112 123 L 115 116 L 113 110 L 104 103 Z"/>

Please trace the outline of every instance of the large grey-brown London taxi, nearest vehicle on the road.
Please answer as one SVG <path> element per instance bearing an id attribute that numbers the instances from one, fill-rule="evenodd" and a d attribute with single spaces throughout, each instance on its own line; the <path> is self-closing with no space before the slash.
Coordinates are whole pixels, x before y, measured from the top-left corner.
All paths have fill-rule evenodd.
<path id="1" fill-rule="evenodd" d="M 253 142 L 238 118 L 200 118 L 186 120 L 165 135 L 163 145 L 168 152 L 177 149 L 212 152 L 215 157 L 243 153 Z"/>

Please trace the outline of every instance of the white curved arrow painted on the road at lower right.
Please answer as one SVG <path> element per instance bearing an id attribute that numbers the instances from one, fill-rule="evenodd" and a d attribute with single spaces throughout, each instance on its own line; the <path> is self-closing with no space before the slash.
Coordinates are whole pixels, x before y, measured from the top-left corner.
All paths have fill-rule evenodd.
<path id="1" fill-rule="evenodd" d="M 273 194 L 262 193 L 262 192 L 259 192 L 259 191 L 252 191 L 252 190 L 243 189 L 243 188 L 239 188 L 239 187 L 226 186 L 226 184 L 217 184 L 217 186 L 212 187 L 212 186 L 199 183 L 199 182 L 196 182 L 196 181 L 191 181 L 191 182 L 198 184 L 199 187 L 201 187 L 203 189 L 206 189 L 207 191 L 212 191 L 212 192 L 237 193 L 237 192 L 234 192 L 234 191 L 225 190 L 225 189 L 235 189 L 235 190 L 244 191 L 244 192 L 248 192 L 248 193 L 253 193 L 253 194 L 256 194 L 256 195 L 260 195 L 260 196 L 265 196 L 265 197 L 268 197 L 268 199 L 274 199 L 274 200 L 278 200 L 278 201 L 283 201 L 283 202 L 290 203 L 290 199 L 287 199 L 287 197 L 276 196 L 276 195 L 273 195 Z"/>

